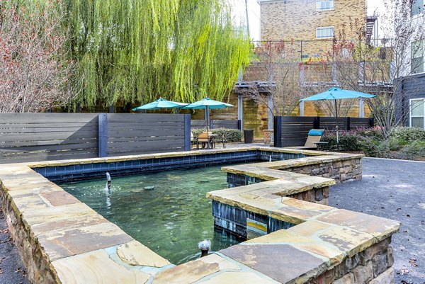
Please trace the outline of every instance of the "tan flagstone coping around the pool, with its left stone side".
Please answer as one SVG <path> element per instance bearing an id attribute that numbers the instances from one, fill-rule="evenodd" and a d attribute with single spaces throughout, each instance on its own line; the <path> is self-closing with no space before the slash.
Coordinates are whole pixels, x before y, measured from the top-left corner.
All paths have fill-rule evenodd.
<path id="1" fill-rule="evenodd" d="M 357 154 L 246 147 L 1 165 L 0 200 L 8 226 L 26 264 L 28 278 L 41 283 L 193 283 L 198 280 L 205 280 L 205 283 L 229 283 L 232 279 L 239 281 L 246 279 L 251 283 L 276 283 L 276 280 L 290 283 L 296 279 L 297 283 L 302 283 L 302 280 L 308 280 L 335 266 L 345 256 L 350 256 L 359 249 L 365 249 L 397 232 L 398 222 L 285 198 L 278 195 L 282 188 L 285 188 L 285 183 L 288 185 L 288 190 L 299 189 L 291 187 L 288 181 L 267 181 L 252 185 L 246 193 L 240 192 L 246 190 L 242 187 L 242 189 L 233 188 L 212 193 L 211 196 L 222 198 L 229 203 L 237 202 L 241 206 L 249 206 L 251 210 L 261 210 L 266 214 L 274 210 L 272 215 L 281 218 L 290 217 L 294 222 L 297 221 L 296 224 L 301 222 L 302 224 L 232 246 L 203 259 L 173 266 L 32 169 L 45 166 L 242 152 L 253 149 L 313 156 L 298 159 L 300 161 L 288 160 L 287 163 L 283 161 L 259 163 L 264 169 L 270 166 L 288 169 L 289 164 L 303 166 L 305 163 L 319 164 L 329 159 L 344 161 L 363 157 Z M 285 166 L 286 168 L 283 168 Z M 273 169 L 274 171 L 276 169 Z M 296 173 L 285 174 L 288 172 L 284 171 L 280 173 L 281 176 L 275 176 L 275 178 L 279 180 L 295 178 L 300 186 L 309 187 L 317 182 L 329 184 L 333 182 L 329 178 Z M 263 184 L 266 184 L 269 190 L 253 187 Z M 276 188 L 272 189 L 273 184 L 280 188 L 279 191 L 276 191 Z M 246 198 L 247 195 L 255 197 Z M 281 209 L 277 210 L 278 206 Z M 373 225 L 374 223 L 377 225 Z M 294 239 L 295 236 L 299 239 Z M 324 240 L 323 236 L 329 238 Z M 252 268 L 249 261 L 247 263 L 246 259 L 240 259 L 241 255 L 237 251 L 239 248 L 248 249 L 243 255 L 249 258 L 253 256 L 252 251 L 255 252 L 263 244 L 276 243 L 285 244 L 285 246 L 282 246 L 284 249 L 280 251 L 280 257 L 268 258 L 271 263 L 263 263 L 263 265 L 271 264 L 274 268 L 271 271 Z M 345 249 L 341 249 L 341 246 Z M 268 248 L 271 247 L 268 246 Z M 275 249 L 275 251 L 278 250 Z M 310 264 L 314 267 L 300 265 L 300 263 L 291 265 L 288 258 L 281 257 L 282 254 L 290 255 L 292 258 L 299 256 L 310 259 Z M 286 262 L 280 263 L 282 259 Z M 276 263 L 273 266 L 274 262 Z M 288 273 L 283 273 L 287 278 L 273 274 L 273 271 L 281 273 L 282 268 L 276 267 L 280 264 L 290 267 L 287 269 Z"/>

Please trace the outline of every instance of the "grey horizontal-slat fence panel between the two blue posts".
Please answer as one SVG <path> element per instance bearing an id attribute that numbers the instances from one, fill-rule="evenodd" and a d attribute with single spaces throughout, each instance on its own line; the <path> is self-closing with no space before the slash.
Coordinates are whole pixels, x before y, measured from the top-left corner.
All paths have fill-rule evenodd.
<path id="1" fill-rule="evenodd" d="M 108 156 L 184 151 L 185 117 L 108 114 Z"/>

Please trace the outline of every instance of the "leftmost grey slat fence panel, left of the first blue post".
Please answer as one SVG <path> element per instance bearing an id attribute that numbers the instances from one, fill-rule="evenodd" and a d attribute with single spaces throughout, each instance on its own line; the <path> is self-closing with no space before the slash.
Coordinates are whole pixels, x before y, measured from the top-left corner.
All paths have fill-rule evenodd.
<path id="1" fill-rule="evenodd" d="M 96 113 L 1 113 L 0 163 L 98 157 Z"/>

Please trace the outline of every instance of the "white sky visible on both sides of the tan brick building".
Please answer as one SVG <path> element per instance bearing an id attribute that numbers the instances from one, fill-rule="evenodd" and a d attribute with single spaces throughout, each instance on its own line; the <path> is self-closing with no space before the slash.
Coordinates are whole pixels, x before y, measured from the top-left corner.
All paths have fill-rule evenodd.
<path id="1" fill-rule="evenodd" d="M 232 5 L 232 11 L 234 14 L 234 21 L 236 23 L 245 23 L 245 0 L 227 0 Z M 249 29 L 251 39 L 260 40 L 260 5 L 257 0 L 248 1 L 248 17 L 249 17 Z M 336 0 L 337 1 L 337 0 Z M 378 13 L 384 13 L 385 8 L 383 5 L 384 0 L 366 0 L 366 6 L 368 7 L 368 15 L 373 15 L 373 11 Z"/>

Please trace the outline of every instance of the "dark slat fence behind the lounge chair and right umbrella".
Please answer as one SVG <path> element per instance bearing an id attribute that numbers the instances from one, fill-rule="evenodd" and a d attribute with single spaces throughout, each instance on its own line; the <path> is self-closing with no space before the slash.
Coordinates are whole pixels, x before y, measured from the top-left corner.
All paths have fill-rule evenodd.
<path id="1" fill-rule="evenodd" d="M 339 130 L 373 127 L 373 118 L 338 118 Z M 274 147 L 303 146 L 311 129 L 335 131 L 334 117 L 275 116 Z"/>

